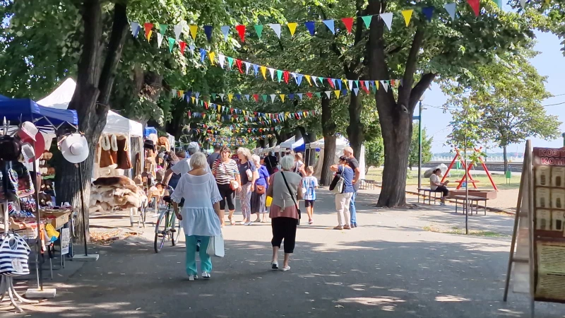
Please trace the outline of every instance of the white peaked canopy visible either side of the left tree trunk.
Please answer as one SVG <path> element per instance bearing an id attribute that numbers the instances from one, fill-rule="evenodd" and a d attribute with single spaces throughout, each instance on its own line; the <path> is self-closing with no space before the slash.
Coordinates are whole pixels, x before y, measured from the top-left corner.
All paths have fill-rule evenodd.
<path id="1" fill-rule="evenodd" d="M 75 81 L 73 81 L 72 78 L 67 78 L 61 86 L 56 88 L 46 98 L 38 100 L 37 104 L 45 107 L 58 108 L 59 110 L 66 110 L 69 107 L 71 98 L 73 98 L 75 88 Z M 143 125 L 109 110 L 103 132 L 143 137 Z"/>

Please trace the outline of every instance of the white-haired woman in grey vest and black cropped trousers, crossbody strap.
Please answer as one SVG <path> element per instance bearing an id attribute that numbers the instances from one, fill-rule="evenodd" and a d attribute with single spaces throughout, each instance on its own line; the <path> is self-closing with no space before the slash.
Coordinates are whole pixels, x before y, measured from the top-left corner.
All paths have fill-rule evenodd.
<path id="1" fill-rule="evenodd" d="M 278 267 L 278 250 L 280 244 L 285 240 L 285 261 L 281 271 L 290 270 L 288 262 L 290 254 L 295 251 L 296 227 L 300 219 L 298 200 L 302 199 L 302 177 L 292 172 L 295 167 L 295 158 L 285 155 L 280 160 L 283 171 L 276 172 L 270 176 L 267 196 L 273 198 L 270 205 L 270 224 L 273 229 L 273 260 L 270 267 L 273 270 Z"/>

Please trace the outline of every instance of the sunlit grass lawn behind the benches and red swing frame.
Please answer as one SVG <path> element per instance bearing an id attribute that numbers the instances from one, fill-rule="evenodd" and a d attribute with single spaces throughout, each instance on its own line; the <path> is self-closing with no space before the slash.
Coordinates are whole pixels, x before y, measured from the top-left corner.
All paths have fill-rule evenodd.
<path id="1" fill-rule="evenodd" d="M 424 178 L 423 173 L 428 168 L 422 168 L 422 185 L 428 185 L 429 179 Z M 449 184 L 450 187 L 457 187 L 458 181 L 463 177 L 463 170 L 451 170 L 451 177 L 448 179 L 451 181 Z M 471 175 L 473 179 L 478 180 L 477 187 L 480 189 L 493 189 L 492 184 L 490 184 L 489 177 L 484 173 L 473 173 L 471 171 Z M 502 174 L 502 172 L 491 172 L 492 179 L 494 180 L 494 184 L 499 190 L 508 190 L 508 189 L 518 189 L 520 187 L 520 176 L 513 175 L 510 178 L 510 182 L 506 182 L 506 177 Z M 376 182 L 381 182 L 383 179 L 383 168 L 375 168 L 371 167 L 369 172 L 367 172 L 367 176 L 365 179 L 375 180 Z M 418 185 L 418 172 L 417 170 L 408 171 L 406 185 Z M 472 189 L 472 185 L 469 184 L 469 189 Z"/>

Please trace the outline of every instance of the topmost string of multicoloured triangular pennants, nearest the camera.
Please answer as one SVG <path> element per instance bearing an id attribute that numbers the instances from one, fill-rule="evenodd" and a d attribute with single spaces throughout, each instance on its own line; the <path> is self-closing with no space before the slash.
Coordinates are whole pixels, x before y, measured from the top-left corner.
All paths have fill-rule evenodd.
<path id="1" fill-rule="evenodd" d="M 472 8 L 472 11 L 475 13 L 475 16 L 479 16 L 479 14 L 480 14 L 480 0 L 467 0 L 467 2 L 469 4 L 469 6 Z M 525 0 L 521 0 L 521 2 L 525 3 Z M 496 1 L 496 3 L 498 4 L 499 1 Z M 499 4 L 499 6 L 500 6 L 500 4 Z M 456 19 L 456 9 L 457 9 L 457 4 L 455 2 L 444 5 L 444 10 L 448 13 L 449 17 L 452 20 Z M 424 17 L 428 21 L 432 20 L 435 12 L 436 12 L 435 6 L 427 6 L 427 7 L 422 8 L 422 14 L 424 15 Z M 402 11 L 397 11 L 395 13 L 400 13 L 403 16 L 405 25 L 408 27 L 408 25 L 410 25 L 410 20 L 412 20 L 412 15 L 414 13 L 414 9 L 405 9 L 405 10 L 402 10 Z M 379 14 L 374 14 L 374 15 L 369 15 L 369 16 L 361 16 L 360 18 L 363 20 L 363 24 L 364 24 L 365 28 L 367 28 L 367 29 L 370 27 L 371 21 L 373 20 L 373 18 L 376 17 L 376 18 L 380 18 L 380 19 L 383 20 L 383 22 L 387 26 L 388 30 L 392 30 L 393 15 L 395 13 L 385 12 L 385 13 L 379 13 Z M 322 28 L 325 26 L 332 34 L 335 35 L 335 33 L 338 32 L 338 30 L 340 30 L 340 28 L 339 28 L 340 25 L 338 25 L 336 27 L 336 21 L 338 21 L 338 23 L 341 22 L 343 24 L 343 26 L 345 27 L 345 30 L 347 30 L 347 33 L 351 34 L 352 28 L 353 28 L 353 23 L 355 22 L 355 18 L 357 18 L 357 17 L 345 17 L 345 18 L 327 19 L 327 20 L 321 20 L 321 21 L 308 20 L 308 21 L 303 21 L 303 22 L 288 22 L 288 23 L 286 23 L 286 27 L 287 27 L 287 29 L 290 33 L 290 37 L 294 37 L 296 30 L 297 30 L 297 27 L 299 25 L 304 25 L 305 30 L 307 30 L 308 33 L 311 36 L 314 36 L 316 34 L 316 25 L 319 25 Z M 167 40 L 169 42 L 169 47 L 174 45 L 175 39 L 179 40 L 180 34 L 182 33 L 183 26 L 184 25 L 182 25 L 182 24 L 173 25 L 175 38 L 173 38 L 173 40 L 171 40 L 172 39 L 171 37 L 167 38 Z M 268 24 L 266 24 L 266 26 L 268 26 L 268 28 L 270 28 L 270 30 L 273 30 L 273 33 L 275 33 L 275 35 L 278 37 L 278 39 L 280 39 L 281 35 L 283 34 L 282 33 L 283 25 L 281 25 L 280 23 L 268 23 Z M 196 41 L 196 36 L 198 35 L 199 32 L 200 33 L 202 32 L 201 30 L 203 30 L 204 34 L 206 35 L 206 39 L 208 40 L 208 42 L 210 42 L 212 40 L 213 33 L 214 33 L 214 26 L 213 25 L 203 25 L 203 27 L 200 27 L 199 25 L 191 24 L 191 25 L 188 25 L 188 27 L 189 27 L 189 35 L 191 36 L 193 41 Z M 133 37 L 138 36 L 141 28 L 142 28 L 142 25 L 139 22 L 131 22 L 131 34 L 133 35 Z M 151 35 L 153 35 L 153 28 L 158 30 L 157 42 L 158 42 L 159 47 L 160 47 L 161 43 L 165 39 L 165 32 L 169 28 L 169 25 L 160 24 L 160 23 L 143 23 L 143 29 L 145 30 L 145 38 L 147 38 L 148 41 L 151 39 Z M 226 42 L 228 41 L 228 39 L 230 37 L 230 33 L 234 33 L 234 31 L 235 31 L 235 33 L 237 33 L 237 35 L 239 35 L 239 40 L 241 40 L 241 42 L 245 42 L 246 35 L 251 33 L 252 30 L 255 31 L 258 39 L 261 40 L 261 37 L 263 36 L 264 28 L 265 28 L 265 25 L 262 25 L 262 24 L 253 25 L 252 28 L 251 28 L 251 25 L 244 25 L 244 24 L 222 25 L 222 26 L 220 26 L 220 31 L 221 31 L 223 38 Z"/>

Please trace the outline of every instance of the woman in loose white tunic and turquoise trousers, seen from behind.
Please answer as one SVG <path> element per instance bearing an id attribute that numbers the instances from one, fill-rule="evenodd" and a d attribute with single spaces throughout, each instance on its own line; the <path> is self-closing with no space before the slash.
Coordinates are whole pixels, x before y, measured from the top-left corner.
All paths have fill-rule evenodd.
<path id="1" fill-rule="evenodd" d="M 200 240 L 200 264 L 203 278 L 210 278 L 212 260 L 206 253 L 210 237 L 219 236 L 220 201 L 222 197 L 214 176 L 206 172 L 206 155 L 195 153 L 190 158 L 192 170 L 182 175 L 174 189 L 171 199 L 174 213 L 184 230 L 186 238 L 186 274 L 189 281 L 198 278 L 196 268 L 196 245 Z M 179 203 L 184 199 L 184 206 L 179 212 Z"/>

